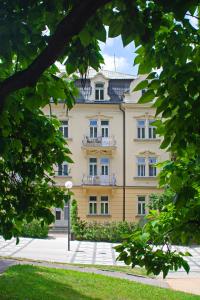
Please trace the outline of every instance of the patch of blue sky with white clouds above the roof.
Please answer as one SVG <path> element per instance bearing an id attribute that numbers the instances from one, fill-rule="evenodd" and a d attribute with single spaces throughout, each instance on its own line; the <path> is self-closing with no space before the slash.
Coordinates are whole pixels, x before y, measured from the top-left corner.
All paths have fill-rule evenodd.
<path id="1" fill-rule="evenodd" d="M 137 75 L 137 67 L 133 67 L 135 58 L 134 43 L 123 47 L 121 36 L 116 38 L 107 38 L 106 43 L 100 42 L 100 48 L 104 57 L 104 70 L 117 71 L 126 74 Z"/>

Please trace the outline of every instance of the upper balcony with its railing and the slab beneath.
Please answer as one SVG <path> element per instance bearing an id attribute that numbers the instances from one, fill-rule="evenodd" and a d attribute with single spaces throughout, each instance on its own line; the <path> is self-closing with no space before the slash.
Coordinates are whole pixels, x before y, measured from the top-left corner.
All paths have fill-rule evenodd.
<path id="1" fill-rule="evenodd" d="M 116 149 L 116 140 L 113 136 L 111 137 L 96 137 L 90 138 L 85 136 L 83 141 L 83 149 L 89 153 L 107 153 L 111 154 Z"/>

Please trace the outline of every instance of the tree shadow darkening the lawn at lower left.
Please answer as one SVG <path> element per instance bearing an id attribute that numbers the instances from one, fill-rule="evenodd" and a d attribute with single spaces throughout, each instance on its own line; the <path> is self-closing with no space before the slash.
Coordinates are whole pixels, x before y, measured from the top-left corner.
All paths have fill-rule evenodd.
<path id="1" fill-rule="evenodd" d="M 87 296 L 87 289 L 83 292 L 75 290 L 73 284 L 78 281 L 78 276 L 75 276 L 74 282 L 68 281 L 67 273 L 61 271 L 55 275 L 55 270 L 45 267 L 12 266 L 0 276 L 0 299 L 100 300 Z"/>

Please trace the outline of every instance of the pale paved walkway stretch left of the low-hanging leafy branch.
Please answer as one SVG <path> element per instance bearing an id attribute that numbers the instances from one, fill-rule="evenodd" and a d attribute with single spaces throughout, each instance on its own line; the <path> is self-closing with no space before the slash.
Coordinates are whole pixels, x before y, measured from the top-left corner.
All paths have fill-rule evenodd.
<path id="1" fill-rule="evenodd" d="M 67 251 L 67 238 L 64 236 L 54 236 L 49 239 L 20 238 L 18 245 L 14 238 L 4 241 L 0 237 L 0 256 L 59 263 L 124 265 L 122 262 L 116 262 L 117 253 L 113 249 L 115 245 L 72 241 L 71 251 Z"/>

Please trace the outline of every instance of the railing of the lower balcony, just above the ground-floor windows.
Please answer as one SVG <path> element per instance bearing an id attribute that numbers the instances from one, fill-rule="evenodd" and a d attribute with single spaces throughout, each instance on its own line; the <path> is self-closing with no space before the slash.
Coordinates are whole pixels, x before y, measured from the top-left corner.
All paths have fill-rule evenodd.
<path id="1" fill-rule="evenodd" d="M 116 177 L 114 174 L 112 176 L 109 176 L 109 175 L 99 175 L 99 176 L 83 175 L 82 184 L 90 185 L 90 186 L 115 186 L 116 185 Z"/>

